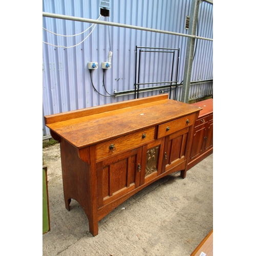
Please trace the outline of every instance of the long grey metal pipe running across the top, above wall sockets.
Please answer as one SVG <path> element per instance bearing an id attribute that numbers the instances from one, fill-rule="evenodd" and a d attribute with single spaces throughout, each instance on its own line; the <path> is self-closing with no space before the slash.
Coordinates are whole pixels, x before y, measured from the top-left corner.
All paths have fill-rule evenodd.
<path id="1" fill-rule="evenodd" d="M 182 33 L 177 33 L 177 32 L 170 32 L 170 31 L 165 31 L 165 30 L 160 30 L 160 29 L 150 29 L 150 28 L 144 28 L 144 27 L 139 27 L 139 26 L 132 26 L 132 25 L 126 25 L 126 24 L 120 24 L 120 23 L 114 23 L 114 22 L 105 22 L 103 20 L 74 17 L 74 16 L 69 16 L 69 15 L 55 14 L 55 13 L 49 13 L 49 12 L 42 12 L 42 16 L 43 17 L 48 17 L 48 18 L 59 18 L 59 19 L 74 20 L 75 22 L 87 22 L 87 23 L 93 23 L 93 24 L 101 24 L 101 25 L 121 27 L 121 28 L 127 28 L 127 29 L 137 29 L 137 30 L 155 32 L 155 33 L 162 33 L 162 34 L 168 34 L 168 35 L 185 36 L 185 37 L 191 37 L 191 38 L 197 38 L 197 39 L 209 40 L 209 41 L 214 40 L 212 38 L 206 38 L 206 37 L 201 37 L 201 36 L 196 36 L 196 35 L 187 35 L 187 34 L 182 34 Z"/>

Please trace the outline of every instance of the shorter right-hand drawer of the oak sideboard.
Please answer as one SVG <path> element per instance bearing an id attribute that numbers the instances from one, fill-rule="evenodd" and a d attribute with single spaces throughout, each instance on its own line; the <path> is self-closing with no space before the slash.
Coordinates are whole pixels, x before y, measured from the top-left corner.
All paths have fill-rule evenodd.
<path id="1" fill-rule="evenodd" d="M 158 126 L 157 138 L 162 138 L 169 134 L 175 133 L 195 123 L 196 115 L 191 114 L 178 118 L 176 120 L 160 124 Z"/>

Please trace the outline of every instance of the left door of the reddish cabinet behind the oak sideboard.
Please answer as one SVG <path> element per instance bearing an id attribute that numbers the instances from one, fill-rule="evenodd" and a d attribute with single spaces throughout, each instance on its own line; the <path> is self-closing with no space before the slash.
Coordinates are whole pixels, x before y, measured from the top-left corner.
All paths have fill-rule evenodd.
<path id="1" fill-rule="evenodd" d="M 189 160 L 193 160 L 194 158 L 197 158 L 200 154 L 202 154 L 204 150 L 205 134 L 205 125 L 200 125 L 197 129 L 194 130 L 193 143 Z"/>

